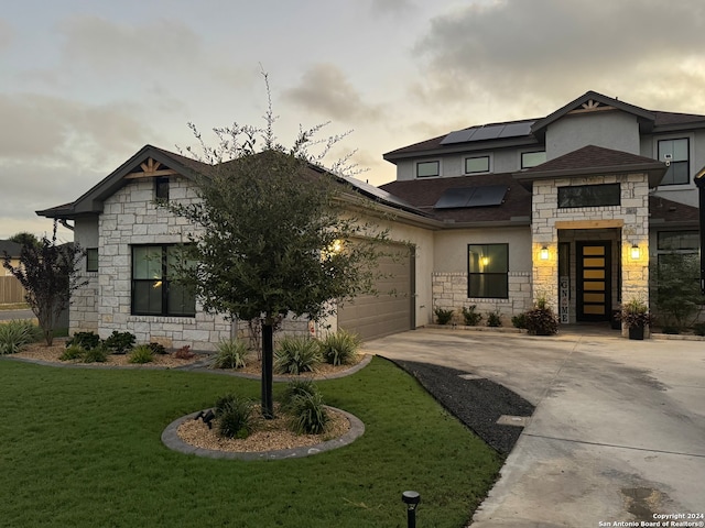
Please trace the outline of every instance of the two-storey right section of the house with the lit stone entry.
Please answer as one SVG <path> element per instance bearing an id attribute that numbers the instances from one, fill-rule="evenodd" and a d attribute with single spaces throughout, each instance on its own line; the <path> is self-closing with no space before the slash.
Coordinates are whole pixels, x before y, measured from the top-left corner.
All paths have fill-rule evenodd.
<path id="1" fill-rule="evenodd" d="M 649 300 L 660 254 L 699 251 L 705 116 L 588 91 L 545 117 L 452 131 L 384 158 L 397 180 L 382 189 L 444 222 L 434 307 L 511 316 L 545 297 L 562 322 L 605 321 L 622 299 Z"/>

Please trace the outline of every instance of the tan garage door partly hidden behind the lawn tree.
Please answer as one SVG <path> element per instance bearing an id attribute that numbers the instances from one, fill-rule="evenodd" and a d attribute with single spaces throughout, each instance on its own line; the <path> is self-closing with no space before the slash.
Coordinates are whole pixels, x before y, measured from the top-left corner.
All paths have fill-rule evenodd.
<path id="1" fill-rule="evenodd" d="M 403 245 L 390 245 L 390 250 L 402 256 L 384 257 L 378 262 L 383 275 L 376 285 L 379 295 L 356 297 L 338 309 L 338 328 L 356 332 L 364 340 L 414 328 L 413 253 L 410 255 Z"/>

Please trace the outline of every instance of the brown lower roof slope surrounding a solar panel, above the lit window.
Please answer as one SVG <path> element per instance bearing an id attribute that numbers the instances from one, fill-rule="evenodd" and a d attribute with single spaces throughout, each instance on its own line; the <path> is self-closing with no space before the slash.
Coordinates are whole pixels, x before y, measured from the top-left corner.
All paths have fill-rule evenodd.
<path id="1" fill-rule="evenodd" d="M 434 209 L 434 205 L 446 189 L 496 185 L 505 185 L 508 189 L 503 202 L 499 206 Z M 380 188 L 400 197 L 433 218 L 445 222 L 530 223 L 531 193 L 519 185 L 509 173 L 400 180 L 382 185 Z"/>

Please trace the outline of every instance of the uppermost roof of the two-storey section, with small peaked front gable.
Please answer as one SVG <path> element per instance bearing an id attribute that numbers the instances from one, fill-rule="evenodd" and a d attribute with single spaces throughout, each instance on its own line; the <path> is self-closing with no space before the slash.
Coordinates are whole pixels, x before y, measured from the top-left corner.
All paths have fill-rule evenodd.
<path id="1" fill-rule="evenodd" d="M 453 135 L 454 138 L 462 135 L 458 134 L 460 131 L 451 131 L 449 133 L 438 135 L 437 138 L 421 141 L 401 148 L 395 148 L 386 153 L 383 157 L 388 162 L 393 163 L 398 160 L 416 157 L 420 155 L 432 156 L 454 152 L 542 145 L 545 136 L 545 130 L 551 123 L 572 112 L 586 112 L 588 111 L 588 108 L 586 107 L 594 108 L 600 106 L 606 109 L 617 109 L 636 116 L 642 133 L 662 133 L 705 128 L 705 116 L 647 110 L 644 108 L 620 101 L 619 99 L 604 96 L 596 91 L 587 91 L 577 99 L 572 100 L 567 105 L 543 118 L 520 119 L 517 121 L 503 121 L 481 125 L 482 128 L 497 128 L 500 125 L 511 127 L 531 122 L 530 131 L 525 134 L 512 135 L 510 138 L 491 138 L 485 141 L 477 141 L 477 136 L 474 138 L 471 134 L 468 134 L 468 138 L 475 141 L 464 143 L 452 142 L 449 144 L 444 143 L 444 140 L 449 135 Z M 480 125 L 468 127 L 463 129 L 463 131 L 470 131 L 476 128 L 480 128 Z"/>

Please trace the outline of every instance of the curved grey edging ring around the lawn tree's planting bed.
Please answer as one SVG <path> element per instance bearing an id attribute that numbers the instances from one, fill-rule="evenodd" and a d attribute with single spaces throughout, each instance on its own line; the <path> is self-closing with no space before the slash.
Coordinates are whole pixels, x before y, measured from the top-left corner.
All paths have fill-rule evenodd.
<path id="1" fill-rule="evenodd" d="M 284 459 L 301 459 L 304 457 L 311 457 L 313 454 L 332 451 L 334 449 L 343 448 L 352 443 L 359 437 L 365 433 L 365 424 L 355 415 L 346 413 L 343 409 L 336 407 L 325 406 L 327 409 L 335 410 L 345 416 L 350 422 L 350 430 L 341 437 L 334 438 L 333 440 L 318 443 L 316 446 L 304 446 L 302 448 L 292 449 L 279 449 L 274 451 L 260 451 L 260 452 L 238 452 L 238 451 L 219 451 L 215 449 L 197 448 L 189 443 L 184 442 L 178 437 L 178 427 L 186 420 L 193 420 L 198 413 L 192 413 L 191 415 L 182 416 L 175 419 L 166 429 L 162 432 L 162 442 L 169 449 L 178 451 L 184 454 L 195 454 L 196 457 L 203 457 L 207 459 L 229 459 L 229 460 L 284 460 Z M 207 409 L 204 409 L 207 410 Z"/>

